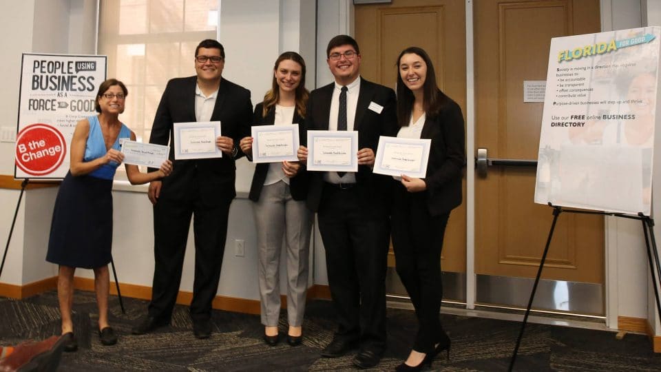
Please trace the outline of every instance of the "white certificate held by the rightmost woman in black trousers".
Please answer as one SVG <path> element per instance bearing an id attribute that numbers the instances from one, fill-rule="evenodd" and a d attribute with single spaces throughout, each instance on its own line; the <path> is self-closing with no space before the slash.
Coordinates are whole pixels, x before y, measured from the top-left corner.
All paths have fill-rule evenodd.
<path id="1" fill-rule="evenodd" d="M 373 172 L 425 178 L 431 145 L 430 139 L 380 136 Z"/>

